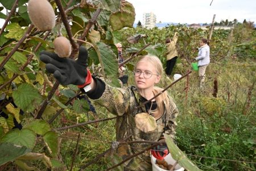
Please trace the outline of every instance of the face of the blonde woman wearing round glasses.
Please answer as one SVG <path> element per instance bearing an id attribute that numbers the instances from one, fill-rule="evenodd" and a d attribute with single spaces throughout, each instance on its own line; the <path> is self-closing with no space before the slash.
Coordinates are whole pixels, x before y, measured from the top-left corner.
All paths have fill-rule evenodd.
<path id="1" fill-rule="evenodd" d="M 160 81 L 160 76 L 156 72 L 156 68 L 150 62 L 141 60 L 137 63 L 135 70 L 135 84 L 138 89 L 148 89 L 154 87 Z"/>

